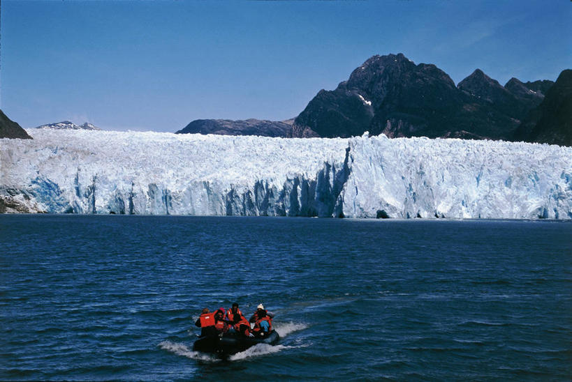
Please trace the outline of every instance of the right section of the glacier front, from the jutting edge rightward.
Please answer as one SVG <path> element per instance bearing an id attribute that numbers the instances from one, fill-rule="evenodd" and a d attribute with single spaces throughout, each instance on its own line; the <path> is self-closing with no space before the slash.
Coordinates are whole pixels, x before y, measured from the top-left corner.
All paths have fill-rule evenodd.
<path id="1" fill-rule="evenodd" d="M 346 216 L 572 218 L 572 148 L 498 141 L 351 139 Z"/>

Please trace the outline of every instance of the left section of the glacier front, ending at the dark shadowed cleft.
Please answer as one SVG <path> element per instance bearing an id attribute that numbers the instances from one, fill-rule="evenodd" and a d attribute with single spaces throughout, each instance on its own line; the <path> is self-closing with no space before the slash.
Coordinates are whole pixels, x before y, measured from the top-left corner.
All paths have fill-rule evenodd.
<path id="1" fill-rule="evenodd" d="M 331 216 L 346 139 L 29 130 L 3 139 L 8 212 Z"/>

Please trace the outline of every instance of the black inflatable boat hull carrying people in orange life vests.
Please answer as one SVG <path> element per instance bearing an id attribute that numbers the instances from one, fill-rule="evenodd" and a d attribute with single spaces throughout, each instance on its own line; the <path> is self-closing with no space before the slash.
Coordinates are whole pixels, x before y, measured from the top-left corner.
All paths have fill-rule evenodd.
<path id="1" fill-rule="evenodd" d="M 257 344 L 274 345 L 277 344 L 279 339 L 280 336 L 276 333 L 276 330 L 272 330 L 272 332 L 264 337 L 244 337 L 237 333 L 208 335 L 198 337 L 193 344 L 193 350 L 202 351 L 203 353 L 216 353 L 219 356 L 228 356 L 240 351 L 245 351 L 249 347 Z"/>

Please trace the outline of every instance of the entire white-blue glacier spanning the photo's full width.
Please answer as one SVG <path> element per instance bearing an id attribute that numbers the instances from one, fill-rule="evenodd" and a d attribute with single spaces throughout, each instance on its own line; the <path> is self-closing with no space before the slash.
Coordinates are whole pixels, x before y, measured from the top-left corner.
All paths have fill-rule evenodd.
<path id="1" fill-rule="evenodd" d="M 572 219 L 572 148 L 28 129 L 0 212 Z"/>

